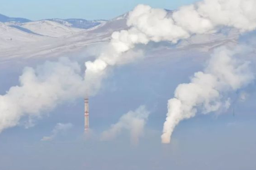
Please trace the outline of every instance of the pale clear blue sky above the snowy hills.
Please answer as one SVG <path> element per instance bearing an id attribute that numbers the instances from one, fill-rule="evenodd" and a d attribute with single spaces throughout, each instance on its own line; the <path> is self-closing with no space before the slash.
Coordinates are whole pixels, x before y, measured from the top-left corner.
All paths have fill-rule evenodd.
<path id="1" fill-rule="evenodd" d="M 45 18 L 111 19 L 139 3 L 152 7 L 176 9 L 196 0 L 5 0 L 0 14 L 31 20 Z"/>

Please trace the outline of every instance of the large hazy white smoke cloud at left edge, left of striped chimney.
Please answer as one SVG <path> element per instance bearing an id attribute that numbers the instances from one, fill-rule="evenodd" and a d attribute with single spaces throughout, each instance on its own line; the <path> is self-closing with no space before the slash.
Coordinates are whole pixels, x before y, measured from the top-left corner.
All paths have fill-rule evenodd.
<path id="1" fill-rule="evenodd" d="M 63 101 L 83 97 L 85 84 L 80 73 L 80 66 L 67 58 L 25 68 L 20 85 L 0 95 L 0 132 L 16 126 L 23 116 L 40 117 Z"/>

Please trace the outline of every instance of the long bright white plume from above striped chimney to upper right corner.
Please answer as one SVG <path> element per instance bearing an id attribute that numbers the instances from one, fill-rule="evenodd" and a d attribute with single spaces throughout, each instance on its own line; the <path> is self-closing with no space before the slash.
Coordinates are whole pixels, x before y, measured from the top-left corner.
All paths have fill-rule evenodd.
<path id="1" fill-rule="evenodd" d="M 255 0 L 204 0 L 181 7 L 173 13 L 138 5 L 129 13 L 129 30 L 114 32 L 108 47 L 94 62 L 86 62 L 85 80 L 99 87 L 110 66 L 126 64 L 137 56 L 123 57 L 136 44 L 150 41 L 177 43 L 193 34 L 212 33 L 221 27 L 241 32 L 256 28 Z"/>

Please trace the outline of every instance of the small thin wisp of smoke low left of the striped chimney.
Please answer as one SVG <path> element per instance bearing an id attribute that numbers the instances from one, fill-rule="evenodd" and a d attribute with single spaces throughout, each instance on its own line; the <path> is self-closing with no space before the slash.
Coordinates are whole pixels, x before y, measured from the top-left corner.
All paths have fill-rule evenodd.
<path id="1" fill-rule="evenodd" d="M 71 129 L 73 126 L 72 123 L 57 123 L 55 128 L 52 131 L 50 136 L 44 136 L 41 141 L 51 141 L 53 140 L 59 133 L 66 132 L 67 130 Z"/>

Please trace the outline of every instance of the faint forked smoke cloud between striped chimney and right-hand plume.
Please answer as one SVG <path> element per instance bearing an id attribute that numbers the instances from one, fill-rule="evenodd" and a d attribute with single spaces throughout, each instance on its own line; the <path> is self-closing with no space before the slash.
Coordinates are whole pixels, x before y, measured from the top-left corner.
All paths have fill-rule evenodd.
<path id="1" fill-rule="evenodd" d="M 136 111 L 129 111 L 123 115 L 119 121 L 111 126 L 109 130 L 106 130 L 102 133 L 102 140 L 112 140 L 122 130 L 130 131 L 130 140 L 131 143 L 136 145 L 139 142 L 139 138 L 144 133 L 144 126 L 146 124 L 149 111 L 145 106 L 140 106 Z"/>

